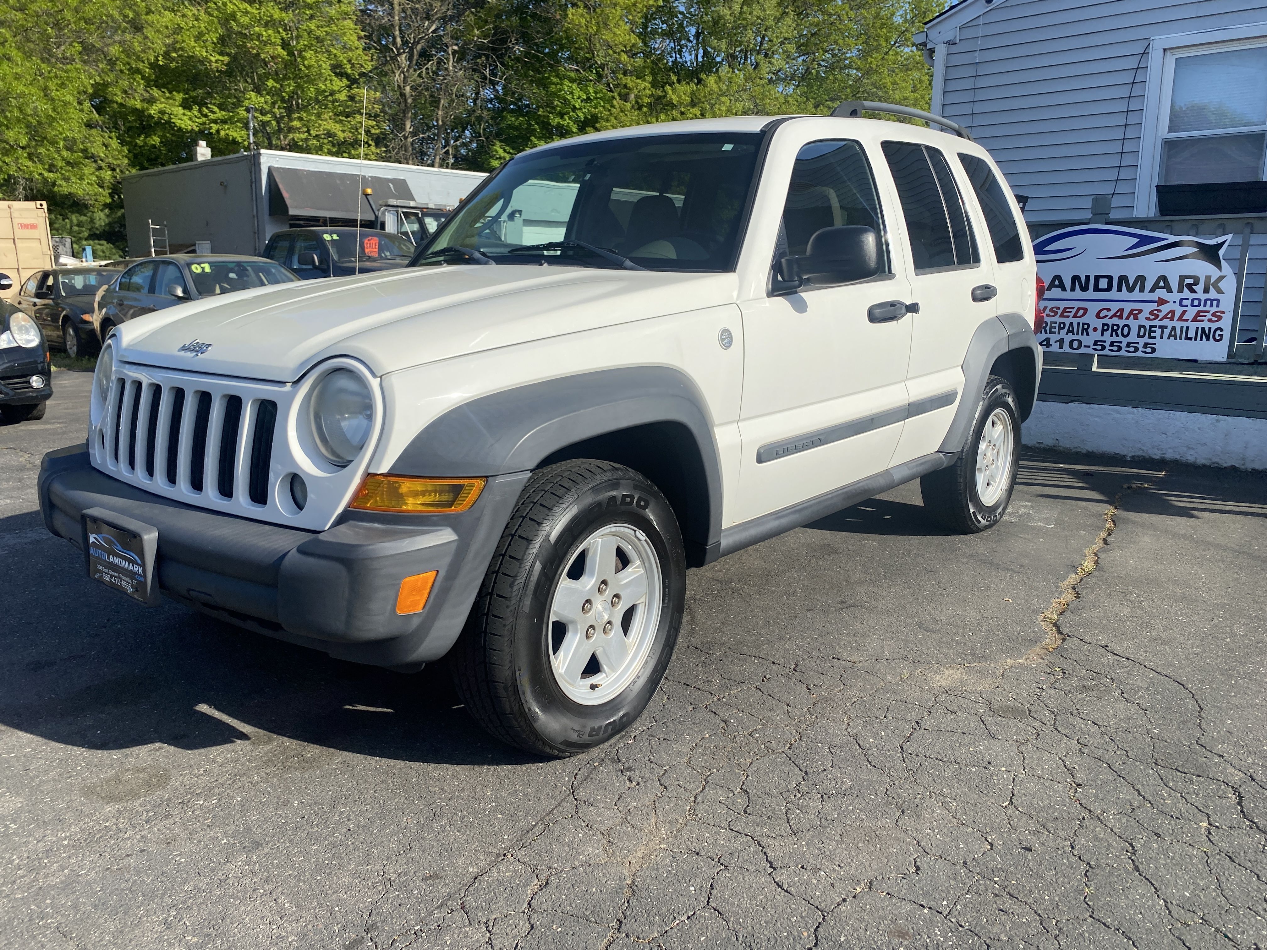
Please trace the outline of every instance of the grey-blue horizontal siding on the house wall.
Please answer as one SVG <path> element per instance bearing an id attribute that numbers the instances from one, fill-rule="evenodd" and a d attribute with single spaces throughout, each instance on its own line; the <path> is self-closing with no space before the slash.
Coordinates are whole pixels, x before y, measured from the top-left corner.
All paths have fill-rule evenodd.
<path id="1" fill-rule="evenodd" d="M 1262 0 L 969 0 L 960 8 L 929 25 L 941 60 L 934 110 L 972 129 L 1012 190 L 1030 196 L 1031 224 L 1085 222 L 1095 195 L 1112 195 L 1112 219 L 1135 215 L 1152 38 L 1267 20 Z M 1194 227 L 1176 220 L 1173 232 Z M 1225 257 L 1234 270 L 1239 232 Z M 1267 228 L 1259 224 L 1242 341 L 1262 327 L 1264 274 Z"/>

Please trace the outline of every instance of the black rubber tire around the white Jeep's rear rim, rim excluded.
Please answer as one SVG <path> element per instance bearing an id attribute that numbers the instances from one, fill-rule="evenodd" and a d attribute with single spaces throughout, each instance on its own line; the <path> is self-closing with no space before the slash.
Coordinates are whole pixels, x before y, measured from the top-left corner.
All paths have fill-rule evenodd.
<path id="1" fill-rule="evenodd" d="M 1007 415 L 1011 427 L 1011 459 L 1007 465 L 1006 484 L 993 504 L 984 504 L 977 490 L 977 455 L 981 448 L 986 423 L 996 410 Z M 960 535 L 974 535 L 997 524 L 1016 486 L 1016 470 L 1021 451 L 1020 410 L 1011 384 L 1001 376 L 986 380 L 986 391 L 972 421 L 968 441 L 954 465 L 934 471 L 920 479 L 924 507 L 943 526 Z"/>

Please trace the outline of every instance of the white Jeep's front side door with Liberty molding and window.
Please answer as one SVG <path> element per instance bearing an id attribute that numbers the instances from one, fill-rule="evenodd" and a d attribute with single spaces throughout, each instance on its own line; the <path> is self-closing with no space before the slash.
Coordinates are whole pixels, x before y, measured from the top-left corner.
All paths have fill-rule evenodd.
<path id="1" fill-rule="evenodd" d="M 895 266 L 872 161 L 856 141 L 799 147 L 788 180 L 775 260 L 803 255 L 822 228 L 877 232 L 878 276 L 837 286 L 803 285 L 742 301 L 737 521 L 767 514 L 888 467 L 907 404 L 911 323 L 884 309 L 910 299 Z M 903 305 L 905 307 L 905 305 Z M 873 309 L 875 308 L 875 309 Z M 881 317 L 882 319 L 877 319 Z"/>

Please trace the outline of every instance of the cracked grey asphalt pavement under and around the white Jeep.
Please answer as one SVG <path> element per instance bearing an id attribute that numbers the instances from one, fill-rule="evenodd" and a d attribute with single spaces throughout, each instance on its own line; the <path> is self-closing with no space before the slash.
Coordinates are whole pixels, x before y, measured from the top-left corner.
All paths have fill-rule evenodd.
<path id="1" fill-rule="evenodd" d="M 1262 475 L 1028 453 L 977 537 L 900 488 L 692 571 L 642 718 L 538 761 L 91 585 L 34 513 L 87 381 L 0 428 L 9 945 L 1267 947 Z"/>

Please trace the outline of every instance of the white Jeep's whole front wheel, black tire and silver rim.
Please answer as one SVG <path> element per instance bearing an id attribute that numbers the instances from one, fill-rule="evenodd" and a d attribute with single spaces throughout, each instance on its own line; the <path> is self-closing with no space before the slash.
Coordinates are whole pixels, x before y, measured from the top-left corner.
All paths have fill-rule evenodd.
<path id="1" fill-rule="evenodd" d="M 677 643 L 685 555 L 673 509 L 611 462 L 533 474 L 454 647 L 454 679 L 493 736 L 568 756 L 626 730 Z"/>

